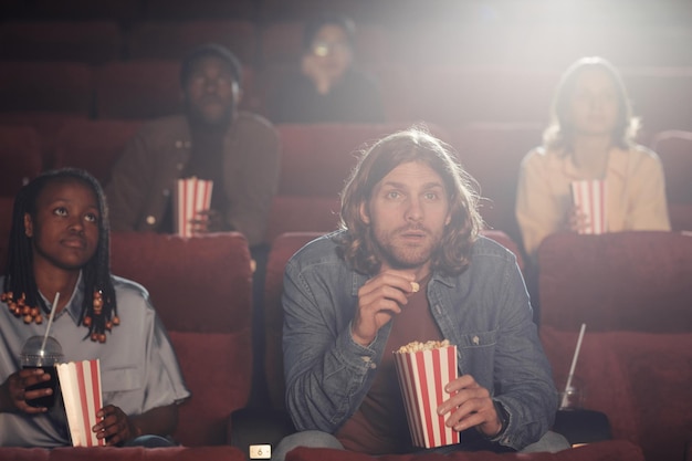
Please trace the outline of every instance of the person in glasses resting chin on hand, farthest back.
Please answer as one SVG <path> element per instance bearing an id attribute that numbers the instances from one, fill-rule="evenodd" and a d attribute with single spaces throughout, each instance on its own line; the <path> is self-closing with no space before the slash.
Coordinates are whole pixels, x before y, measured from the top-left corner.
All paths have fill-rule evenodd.
<path id="1" fill-rule="evenodd" d="M 379 87 L 355 64 L 355 24 L 325 14 L 310 21 L 303 35 L 300 72 L 270 99 L 274 123 L 378 123 L 385 121 Z"/>

